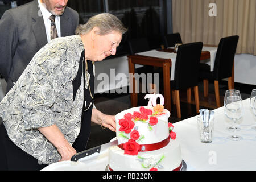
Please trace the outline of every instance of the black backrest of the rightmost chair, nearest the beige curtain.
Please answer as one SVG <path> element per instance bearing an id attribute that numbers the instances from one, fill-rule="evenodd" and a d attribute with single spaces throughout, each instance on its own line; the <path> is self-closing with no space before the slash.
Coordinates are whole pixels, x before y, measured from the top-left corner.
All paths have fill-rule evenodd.
<path id="1" fill-rule="evenodd" d="M 220 39 L 214 61 L 214 80 L 221 80 L 232 76 L 234 55 L 239 36 L 228 36 Z"/>

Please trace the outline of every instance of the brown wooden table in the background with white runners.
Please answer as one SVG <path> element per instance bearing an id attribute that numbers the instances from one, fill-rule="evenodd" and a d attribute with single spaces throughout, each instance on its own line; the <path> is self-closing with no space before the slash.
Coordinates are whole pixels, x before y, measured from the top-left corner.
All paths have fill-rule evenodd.
<path id="1" fill-rule="evenodd" d="M 211 71 L 213 71 L 215 57 L 212 57 L 211 55 L 216 54 L 217 52 L 216 46 L 206 45 L 206 46 L 203 46 L 202 50 L 203 51 L 201 52 L 200 60 L 210 59 Z M 215 50 L 215 52 L 213 52 L 213 50 Z M 173 53 L 174 48 L 159 49 L 158 51 Z M 150 51 L 147 51 L 147 52 L 150 52 Z M 142 55 L 139 55 L 139 54 L 142 54 Z M 175 60 L 174 60 L 174 57 L 170 57 L 170 59 L 167 59 L 166 57 L 163 59 L 158 57 L 146 56 L 146 52 L 138 53 L 137 55 L 129 55 L 127 57 L 129 61 L 129 73 L 131 73 L 132 75 L 135 73 L 135 64 L 151 65 L 154 67 L 163 68 L 163 86 L 164 86 L 163 92 L 164 92 L 164 98 L 166 99 L 164 103 L 164 107 L 167 110 L 171 111 L 171 86 L 170 86 L 170 80 L 168 80 L 168 78 L 170 78 L 169 67 L 172 67 L 172 69 L 174 70 L 176 57 L 175 57 Z M 174 71 L 171 72 L 171 80 L 172 78 L 174 78 Z M 137 96 L 137 93 L 135 93 L 135 78 L 133 78 L 133 82 L 130 86 L 132 86 L 131 87 L 132 90 L 130 90 L 131 106 L 136 107 L 138 96 Z M 234 64 L 233 64 L 233 72 L 232 72 L 232 89 L 234 89 Z"/>

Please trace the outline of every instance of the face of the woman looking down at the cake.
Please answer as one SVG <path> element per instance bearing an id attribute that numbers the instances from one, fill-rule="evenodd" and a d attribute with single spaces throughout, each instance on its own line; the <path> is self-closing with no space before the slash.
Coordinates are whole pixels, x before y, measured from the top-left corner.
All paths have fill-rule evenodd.
<path id="1" fill-rule="evenodd" d="M 92 61 L 102 61 L 110 55 L 115 55 L 117 46 L 119 46 L 122 40 L 122 34 L 117 31 L 112 31 L 110 34 L 98 35 L 95 34 L 95 38 L 92 42 Z"/>

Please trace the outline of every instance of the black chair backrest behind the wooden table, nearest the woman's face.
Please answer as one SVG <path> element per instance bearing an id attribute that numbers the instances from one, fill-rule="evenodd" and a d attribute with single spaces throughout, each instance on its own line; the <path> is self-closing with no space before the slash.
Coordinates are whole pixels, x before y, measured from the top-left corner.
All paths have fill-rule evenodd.
<path id="1" fill-rule="evenodd" d="M 149 51 L 150 46 L 147 38 L 138 38 L 138 39 L 130 39 L 128 40 L 130 54 L 134 55 L 138 52 Z"/>

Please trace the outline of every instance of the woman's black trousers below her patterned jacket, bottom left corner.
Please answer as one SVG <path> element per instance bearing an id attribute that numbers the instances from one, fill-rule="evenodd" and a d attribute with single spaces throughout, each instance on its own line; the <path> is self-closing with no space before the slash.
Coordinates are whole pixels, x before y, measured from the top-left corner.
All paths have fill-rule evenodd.
<path id="1" fill-rule="evenodd" d="M 46 166 L 16 146 L 8 137 L 2 123 L 0 126 L 0 170 L 38 171 Z"/>

